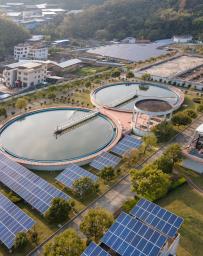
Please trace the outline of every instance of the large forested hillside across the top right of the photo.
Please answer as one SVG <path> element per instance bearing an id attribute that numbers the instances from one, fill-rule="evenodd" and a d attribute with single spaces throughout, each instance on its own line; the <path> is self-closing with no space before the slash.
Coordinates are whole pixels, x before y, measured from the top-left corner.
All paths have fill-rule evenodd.
<path id="1" fill-rule="evenodd" d="M 58 31 L 61 36 L 99 39 L 203 38 L 203 0 L 107 0 L 65 18 Z"/>

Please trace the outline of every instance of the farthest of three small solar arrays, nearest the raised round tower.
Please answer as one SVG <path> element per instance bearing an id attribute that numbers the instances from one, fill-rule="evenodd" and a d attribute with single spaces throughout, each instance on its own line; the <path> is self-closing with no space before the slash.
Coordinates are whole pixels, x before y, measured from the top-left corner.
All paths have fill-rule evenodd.
<path id="1" fill-rule="evenodd" d="M 111 150 L 113 153 L 123 156 L 132 149 L 139 148 L 142 141 L 133 135 L 125 135 L 125 137 Z"/>

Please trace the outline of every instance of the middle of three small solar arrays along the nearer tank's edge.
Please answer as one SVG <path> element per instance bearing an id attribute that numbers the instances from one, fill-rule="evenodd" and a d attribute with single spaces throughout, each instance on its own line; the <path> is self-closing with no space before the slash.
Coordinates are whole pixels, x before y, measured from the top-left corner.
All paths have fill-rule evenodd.
<path id="1" fill-rule="evenodd" d="M 105 167 L 116 167 L 121 161 L 120 157 L 114 156 L 111 153 L 104 152 L 96 159 L 94 159 L 90 166 L 101 171 Z"/>

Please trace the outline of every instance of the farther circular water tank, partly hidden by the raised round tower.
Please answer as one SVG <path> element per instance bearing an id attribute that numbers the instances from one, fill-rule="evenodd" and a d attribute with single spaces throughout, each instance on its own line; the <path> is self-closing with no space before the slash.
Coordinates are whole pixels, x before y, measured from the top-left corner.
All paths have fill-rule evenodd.
<path id="1" fill-rule="evenodd" d="M 180 91 L 159 84 L 123 82 L 102 86 L 91 94 L 92 103 L 97 107 L 106 107 L 123 112 L 133 112 L 136 102 L 141 100 L 160 100 L 179 105 Z M 154 102 L 155 103 L 155 102 Z M 157 103 L 157 102 L 156 102 Z"/>

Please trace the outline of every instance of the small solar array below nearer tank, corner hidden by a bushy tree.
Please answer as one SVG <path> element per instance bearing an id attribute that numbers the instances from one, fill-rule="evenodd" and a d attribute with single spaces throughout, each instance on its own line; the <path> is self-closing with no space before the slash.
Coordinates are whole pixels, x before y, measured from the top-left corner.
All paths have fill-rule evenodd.
<path id="1" fill-rule="evenodd" d="M 86 171 L 85 169 L 77 166 L 76 164 L 69 164 L 67 168 L 60 173 L 56 180 L 64 184 L 65 186 L 72 188 L 73 183 L 83 177 L 88 177 L 94 182 L 97 181 L 98 177 L 91 172 Z"/>

